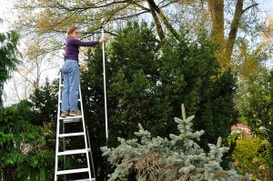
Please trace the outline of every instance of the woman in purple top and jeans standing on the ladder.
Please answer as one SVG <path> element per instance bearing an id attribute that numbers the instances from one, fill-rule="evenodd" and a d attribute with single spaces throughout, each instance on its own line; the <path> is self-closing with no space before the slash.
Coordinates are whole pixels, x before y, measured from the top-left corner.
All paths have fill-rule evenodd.
<path id="1" fill-rule="evenodd" d="M 65 64 L 61 71 L 64 75 L 64 88 L 62 93 L 61 116 L 81 116 L 78 110 L 78 89 L 79 89 L 79 46 L 99 45 L 106 41 L 102 36 L 98 41 L 83 42 L 78 39 L 78 29 L 71 26 L 67 29 Z"/>

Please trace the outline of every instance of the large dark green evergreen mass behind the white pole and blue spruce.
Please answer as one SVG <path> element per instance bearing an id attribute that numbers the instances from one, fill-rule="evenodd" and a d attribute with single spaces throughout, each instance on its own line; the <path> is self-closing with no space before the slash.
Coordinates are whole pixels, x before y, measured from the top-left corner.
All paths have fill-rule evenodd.
<path id="1" fill-rule="evenodd" d="M 109 146 L 116 146 L 118 136 L 132 138 L 137 123 L 149 127 L 153 135 L 176 133 L 172 117 L 179 115 L 179 105 L 185 103 L 188 113 L 197 117 L 193 127 L 207 132 L 200 143 L 207 150 L 207 143 L 216 143 L 217 136 L 226 137 L 237 122 L 233 104 L 236 76 L 231 71 L 221 74 L 216 45 L 208 40 L 206 31 L 191 39 L 181 29 L 187 43 L 170 34 L 161 46 L 154 27 L 129 22 L 107 46 Z M 81 85 L 85 117 L 96 145 L 95 165 L 103 171 L 106 165 L 97 149 L 106 144 L 101 51 L 100 47 L 89 51 Z"/>

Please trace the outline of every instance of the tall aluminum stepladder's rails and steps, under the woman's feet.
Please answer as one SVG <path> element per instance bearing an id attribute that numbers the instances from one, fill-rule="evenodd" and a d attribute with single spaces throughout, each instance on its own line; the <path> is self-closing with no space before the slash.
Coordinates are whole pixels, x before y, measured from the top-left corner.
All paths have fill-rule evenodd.
<path id="1" fill-rule="evenodd" d="M 90 139 L 88 135 L 88 129 L 86 127 L 85 118 L 84 118 L 84 111 L 83 111 L 83 103 L 82 103 L 82 95 L 81 95 L 81 87 L 79 85 L 79 99 L 80 102 L 80 110 L 82 115 L 81 116 L 67 116 L 62 117 L 61 114 L 61 96 L 62 96 L 62 89 L 63 89 L 63 75 L 60 71 L 59 73 L 59 93 L 58 93 L 58 110 L 57 110 L 57 125 L 56 125 L 56 165 L 55 165 L 55 181 L 58 180 L 58 176 L 63 176 L 64 178 L 62 180 L 67 180 L 66 175 L 73 175 L 73 174 L 84 174 L 87 175 L 87 178 L 80 178 L 80 179 L 73 179 L 74 181 L 96 181 L 95 177 L 95 168 L 93 164 L 93 158 L 92 158 L 92 152 L 91 152 L 91 145 L 90 145 Z M 80 132 L 74 132 L 74 133 L 66 133 L 65 127 L 67 124 L 70 123 L 82 123 L 83 130 Z M 60 133 L 60 126 L 62 124 L 62 133 Z M 73 137 L 82 136 L 84 137 L 84 148 L 81 149 L 71 149 L 66 150 L 66 140 L 67 139 L 73 139 Z M 88 138 L 88 139 L 87 139 Z M 60 148 L 60 140 L 62 141 L 63 150 L 59 151 Z M 93 172 L 91 172 L 91 166 L 90 166 L 90 160 L 89 160 L 89 154 L 91 158 L 91 164 L 93 168 Z M 82 168 L 73 168 L 73 169 L 66 169 L 66 156 L 75 156 L 75 155 L 86 155 L 86 166 Z M 63 170 L 58 170 L 60 166 L 58 166 L 59 158 L 63 156 Z M 84 157 L 85 158 L 85 157 Z M 92 177 L 93 176 L 93 177 Z"/>

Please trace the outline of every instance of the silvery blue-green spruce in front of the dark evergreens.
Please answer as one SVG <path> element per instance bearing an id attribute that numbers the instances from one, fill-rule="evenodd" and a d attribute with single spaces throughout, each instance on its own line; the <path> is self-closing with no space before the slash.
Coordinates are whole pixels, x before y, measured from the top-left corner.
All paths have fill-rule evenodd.
<path id="1" fill-rule="evenodd" d="M 194 116 L 186 118 L 182 105 L 182 117 L 175 118 L 180 134 L 170 135 L 170 140 L 159 136 L 152 137 L 140 124 L 136 139 L 118 138 L 116 148 L 102 147 L 103 156 L 115 172 L 109 181 L 123 178 L 136 172 L 136 180 L 250 180 L 249 176 L 239 176 L 235 170 L 224 170 L 220 163 L 227 147 L 221 147 L 221 138 L 217 146 L 209 144 L 210 151 L 205 153 L 194 141 L 200 141 L 204 131 L 193 132 L 191 128 Z"/>

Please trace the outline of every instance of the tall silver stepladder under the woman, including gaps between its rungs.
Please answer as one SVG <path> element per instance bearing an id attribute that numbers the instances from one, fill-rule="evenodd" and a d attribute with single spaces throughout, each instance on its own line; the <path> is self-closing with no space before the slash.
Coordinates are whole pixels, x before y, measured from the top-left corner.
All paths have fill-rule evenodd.
<path id="1" fill-rule="evenodd" d="M 96 181 L 91 144 L 84 117 L 80 84 L 78 91 L 78 107 L 81 114 L 78 116 L 61 116 L 63 87 L 63 75 L 60 71 L 54 180 Z"/>

